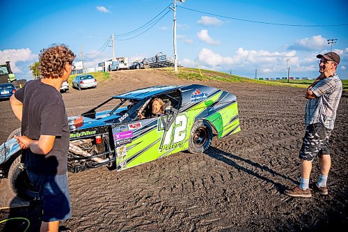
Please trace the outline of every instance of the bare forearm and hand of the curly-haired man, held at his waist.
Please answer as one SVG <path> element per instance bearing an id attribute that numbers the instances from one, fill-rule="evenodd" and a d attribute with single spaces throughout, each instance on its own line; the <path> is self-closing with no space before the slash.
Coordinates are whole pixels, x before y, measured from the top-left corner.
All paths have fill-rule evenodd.
<path id="1" fill-rule="evenodd" d="M 15 135 L 15 139 L 17 139 L 22 149 L 30 149 L 33 153 L 39 155 L 47 155 L 52 150 L 56 137 L 54 135 L 40 135 L 39 140 L 33 140 L 25 135 Z"/>

